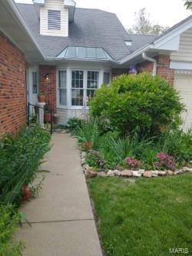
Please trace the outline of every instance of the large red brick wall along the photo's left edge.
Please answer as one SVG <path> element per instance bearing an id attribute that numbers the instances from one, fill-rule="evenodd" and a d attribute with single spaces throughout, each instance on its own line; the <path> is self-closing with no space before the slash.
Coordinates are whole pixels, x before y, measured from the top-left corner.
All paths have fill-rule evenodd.
<path id="1" fill-rule="evenodd" d="M 0 138 L 25 124 L 25 56 L 0 32 Z"/>

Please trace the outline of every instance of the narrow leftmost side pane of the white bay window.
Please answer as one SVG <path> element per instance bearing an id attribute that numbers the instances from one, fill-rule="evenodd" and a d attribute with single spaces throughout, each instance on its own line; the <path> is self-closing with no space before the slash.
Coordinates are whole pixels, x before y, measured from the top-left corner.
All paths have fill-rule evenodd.
<path id="1" fill-rule="evenodd" d="M 58 71 L 59 105 L 67 105 L 67 71 Z"/>

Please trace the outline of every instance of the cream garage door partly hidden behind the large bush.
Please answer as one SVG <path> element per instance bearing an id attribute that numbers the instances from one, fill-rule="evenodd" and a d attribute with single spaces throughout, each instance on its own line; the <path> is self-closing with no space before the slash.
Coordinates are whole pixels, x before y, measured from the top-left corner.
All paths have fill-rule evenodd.
<path id="1" fill-rule="evenodd" d="M 183 113 L 184 129 L 192 128 L 192 75 L 175 75 L 174 86 L 187 111 Z"/>

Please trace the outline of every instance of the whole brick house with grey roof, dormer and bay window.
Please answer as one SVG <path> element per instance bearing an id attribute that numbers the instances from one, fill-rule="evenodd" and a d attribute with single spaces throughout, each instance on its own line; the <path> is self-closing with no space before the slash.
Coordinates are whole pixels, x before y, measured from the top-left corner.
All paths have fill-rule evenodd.
<path id="1" fill-rule="evenodd" d="M 58 124 L 81 117 L 94 91 L 132 67 L 166 78 L 192 123 L 192 17 L 159 37 L 129 35 L 117 16 L 72 0 L 0 2 L 0 137 L 26 123 L 45 95 Z"/>

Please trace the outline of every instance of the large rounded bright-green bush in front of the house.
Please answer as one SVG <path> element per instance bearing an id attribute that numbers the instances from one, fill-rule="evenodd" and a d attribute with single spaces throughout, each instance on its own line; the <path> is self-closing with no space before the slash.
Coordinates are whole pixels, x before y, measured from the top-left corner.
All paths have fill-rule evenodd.
<path id="1" fill-rule="evenodd" d="M 158 135 L 170 124 L 177 127 L 184 109 L 167 81 L 144 73 L 115 78 L 98 89 L 90 107 L 91 115 L 108 120 L 122 135 L 137 131 L 144 136 Z"/>

